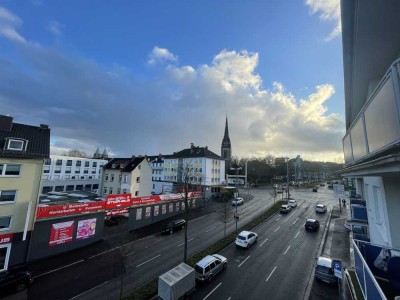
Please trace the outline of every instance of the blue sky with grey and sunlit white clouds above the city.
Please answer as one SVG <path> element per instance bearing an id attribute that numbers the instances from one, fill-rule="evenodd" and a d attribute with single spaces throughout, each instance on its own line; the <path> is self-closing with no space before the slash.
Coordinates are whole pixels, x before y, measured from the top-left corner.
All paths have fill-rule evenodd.
<path id="1" fill-rule="evenodd" d="M 339 0 L 0 0 L 0 114 L 51 154 L 343 161 Z"/>

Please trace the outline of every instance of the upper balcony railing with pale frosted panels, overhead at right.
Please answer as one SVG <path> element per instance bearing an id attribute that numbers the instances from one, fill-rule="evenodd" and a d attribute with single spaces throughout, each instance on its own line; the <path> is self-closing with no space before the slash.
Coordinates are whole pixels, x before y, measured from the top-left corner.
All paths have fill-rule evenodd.
<path id="1" fill-rule="evenodd" d="M 400 143 L 400 60 L 379 82 L 344 136 L 345 165 L 351 165 Z"/>

